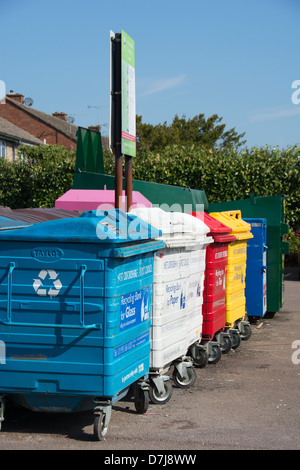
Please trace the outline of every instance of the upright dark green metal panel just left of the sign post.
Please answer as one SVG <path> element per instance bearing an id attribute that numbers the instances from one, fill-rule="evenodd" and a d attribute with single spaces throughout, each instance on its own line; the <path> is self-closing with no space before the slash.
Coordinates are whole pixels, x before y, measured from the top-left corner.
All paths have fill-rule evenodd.
<path id="1" fill-rule="evenodd" d="M 104 160 L 100 132 L 78 127 L 75 169 L 104 173 Z"/>

